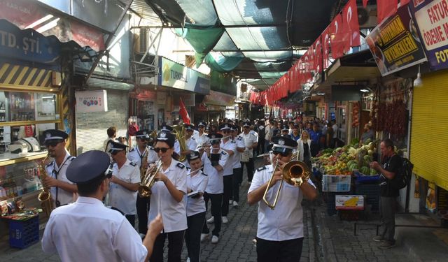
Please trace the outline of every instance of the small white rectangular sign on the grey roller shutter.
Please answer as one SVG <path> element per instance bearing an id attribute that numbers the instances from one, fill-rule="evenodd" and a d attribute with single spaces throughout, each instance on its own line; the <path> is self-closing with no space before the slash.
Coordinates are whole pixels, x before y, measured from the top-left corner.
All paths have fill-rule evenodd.
<path id="1" fill-rule="evenodd" d="M 107 92 L 83 91 L 75 92 L 76 112 L 107 112 Z"/>

